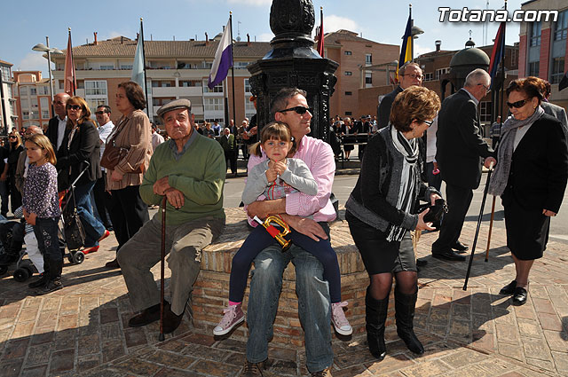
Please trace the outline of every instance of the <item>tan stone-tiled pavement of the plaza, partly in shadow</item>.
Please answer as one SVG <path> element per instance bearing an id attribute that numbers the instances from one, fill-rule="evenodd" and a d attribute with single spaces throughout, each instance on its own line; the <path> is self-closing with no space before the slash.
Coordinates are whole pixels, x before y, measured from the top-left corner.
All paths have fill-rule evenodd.
<path id="1" fill-rule="evenodd" d="M 475 223 L 461 240 L 471 243 Z M 334 226 L 346 226 L 335 223 Z M 494 229 L 485 263 L 487 227 L 467 291 L 466 263 L 430 257 L 437 233 L 422 234 L 416 332 L 427 352 L 415 357 L 387 330 L 388 356 L 375 363 L 362 335 L 334 341 L 333 375 L 346 376 L 568 376 L 568 246 L 549 242 L 534 264 L 528 302 L 510 304 L 499 289 L 513 278 L 505 234 Z M 245 344 L 197 334 L 184 322 L 158 342 L 158 325 L 129 328 L 132 315 L 118 271 L 104 263 L 114 257 L 113 237 L 83 264 L 64 267 L 65 288 L 35 297 L 26 284 L 4 276 L 0 282 L 0 375 L 2 376 L 236 376 Z M 159 270 L 154 269 L 159 276 Z M 364 287 L 361 287 L 364 289 Z M 220 316 L 221 313 L 212 313 Z M 347 311 L 349 317 L 349 311 Z M 272 348 L 272 376 L 307 375 L 302 351 Z"/>

